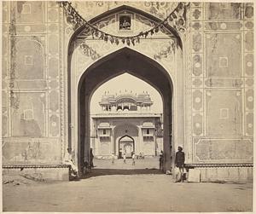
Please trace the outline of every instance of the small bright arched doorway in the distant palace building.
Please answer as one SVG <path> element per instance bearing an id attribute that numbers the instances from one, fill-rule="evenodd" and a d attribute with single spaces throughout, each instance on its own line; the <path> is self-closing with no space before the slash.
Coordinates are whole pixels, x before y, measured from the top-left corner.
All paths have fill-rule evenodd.
<path id="1" fill-rule="evenodd" d="M 119 138 L 119 159 L 123 158 L 125 154 L 126 158 L 131 158 L 132 153 L 135 153 L 135 142 L 131 136 L 122 136 Z"/>

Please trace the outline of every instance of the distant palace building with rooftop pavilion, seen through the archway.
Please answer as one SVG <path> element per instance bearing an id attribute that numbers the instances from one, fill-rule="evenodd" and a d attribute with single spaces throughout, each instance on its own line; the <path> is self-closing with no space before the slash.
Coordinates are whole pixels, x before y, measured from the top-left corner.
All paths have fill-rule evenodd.
<path id="1" fill-rule="evenodd" d="M 163 149 L 162 114 L 152 113 L 148 93 L 105 94 L 102 113 L 92 114 L 90 147 L 97 158 L 112 153 L 122 158 L 131 153 L 156 156 Z"/>

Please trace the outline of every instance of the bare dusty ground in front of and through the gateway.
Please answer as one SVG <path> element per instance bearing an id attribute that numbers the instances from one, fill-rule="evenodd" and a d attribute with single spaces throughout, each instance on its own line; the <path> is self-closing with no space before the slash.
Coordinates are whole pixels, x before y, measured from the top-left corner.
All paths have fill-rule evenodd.
<path id="1" fill-rule="evenodd" d="M 157 159 L 95 165 L 77 182 L 17 177 L 3 185 L 3 211 L 252 211 L 253 183 L 175 183 L 154 169 Z"/>

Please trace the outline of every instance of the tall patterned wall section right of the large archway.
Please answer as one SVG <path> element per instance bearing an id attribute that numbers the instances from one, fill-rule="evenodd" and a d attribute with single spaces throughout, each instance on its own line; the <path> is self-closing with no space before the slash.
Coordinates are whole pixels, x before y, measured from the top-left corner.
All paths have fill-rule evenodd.
<path id="1" fill-rule="evenodd" d="M 253 4 L 191 6 L 191 162 L 251 162 Z"/>

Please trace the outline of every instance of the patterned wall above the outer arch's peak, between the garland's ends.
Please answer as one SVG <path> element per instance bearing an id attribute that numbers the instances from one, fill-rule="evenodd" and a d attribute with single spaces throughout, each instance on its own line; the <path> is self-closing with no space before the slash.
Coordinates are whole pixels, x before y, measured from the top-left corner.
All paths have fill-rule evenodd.
<path id="1" fill-rule="evenodd" d="M 178 2 L 125 2 L 125 1 L 84 1 L 84 2 L 72 2 L 73 7 L 79 11 L 86 20 L 91 20 L 99 14 L 102 14 L 108 10 L 118 8 L 121 5 L 127 5 L 136 9 L 143 10 L 148 14 L 152 14 L 160 20 L 164 20 L 166 16 L 177 7 Z"/>

